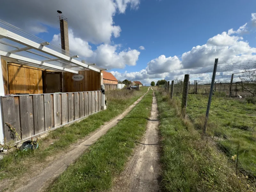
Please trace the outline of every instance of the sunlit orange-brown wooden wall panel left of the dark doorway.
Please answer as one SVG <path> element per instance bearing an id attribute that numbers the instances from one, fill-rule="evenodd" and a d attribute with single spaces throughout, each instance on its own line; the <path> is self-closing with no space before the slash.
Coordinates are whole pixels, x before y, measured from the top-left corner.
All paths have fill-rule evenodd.
<path id="1" fill-rule="evenodd" d="M 8 64 L 9 93 L 43 93 L 42 70 L 22 66 L 19 64 Z"/>

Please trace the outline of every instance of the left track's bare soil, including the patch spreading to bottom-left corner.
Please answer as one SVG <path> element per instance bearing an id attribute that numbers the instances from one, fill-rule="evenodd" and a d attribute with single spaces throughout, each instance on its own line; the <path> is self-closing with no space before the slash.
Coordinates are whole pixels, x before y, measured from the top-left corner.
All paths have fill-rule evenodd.
<path id="1" fill-rule="evenodd" d="M 45 165 L 45 163 L 42 162 L 34 165 L 33 170 L 35 171 L 33 171 L 31 174 L 26 174 L 26 176 L 22 177 L 23 179 L 13 178 L 9 180 L 2 180 L 0 189 L 15 192 L 44 191 L 47 186 L 62 172 L 64 172 L 67 167 L 73 163 L 90 145 L 95 143 L 111 127 L 115 126 L 121 119 L 123 119 L 124 116 L 126 116 L 132 110 L 132 108 L 134 108 L 140 102 L 144 95 L 135 101 L 121 115 L 102 125 L 98 130 L 92 132 L 83 140 L 80 140 L 80 142 L 72 145 L 68 151 L 58 155 L 58 158 L 54 158 L 55 160 L 51 164 Z"/>

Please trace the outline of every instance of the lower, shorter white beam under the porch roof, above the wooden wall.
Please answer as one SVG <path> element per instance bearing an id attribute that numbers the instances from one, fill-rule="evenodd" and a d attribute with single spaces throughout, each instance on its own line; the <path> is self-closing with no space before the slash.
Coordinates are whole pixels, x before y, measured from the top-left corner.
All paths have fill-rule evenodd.
<path id="1" fill-rule="evenodd" d="M 30 59 L 30 58 L 27 58 L 27 57 L 23 57 L 23 56 L 20 56 L 20 55 L 16 55 L 16 54 L 13 54 L 13 53 L 0 51 L 0 55 L 3 55 L 5 57 L 9 57 L 9 58 L 12 58 L 12 59 L 17 59 L 17 60 L 20 60 L 20 61 L 28 62 L 28 63 L 31 63 L 31 64 L 35 64 L 35 65 L 38 65 L 38 66 L 45 66 L 45 67 L 48 67 L 48 68 L 53 68 L 53 69 L 58 69 L 58 70 L 78 74 L 78 71 L 75 71 L 75 70 L 72 70 L 72 69 L 63 68 L 63 67 L 60 67 L 60 66 L 52 65 L 50 63 L 45 63 L 45 62 L 42 62 L 42 61 L 38 61 L 38 60 Z M 1 78 L 0 78 L 0 81 L 1 81 Z"/>

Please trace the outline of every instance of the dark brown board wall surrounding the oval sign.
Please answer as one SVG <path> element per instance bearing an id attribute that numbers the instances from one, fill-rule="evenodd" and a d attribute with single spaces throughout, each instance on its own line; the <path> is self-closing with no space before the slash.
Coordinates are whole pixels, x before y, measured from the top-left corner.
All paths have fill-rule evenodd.
<path id="1" fill-rule="evenodd" d="M 74 81 L 74 73 L 63 73 L 63 92 L 84 92 L 101 90 L 101 73 L 96 71 L 79 71 L 84 76 L 82 81 Z"/>

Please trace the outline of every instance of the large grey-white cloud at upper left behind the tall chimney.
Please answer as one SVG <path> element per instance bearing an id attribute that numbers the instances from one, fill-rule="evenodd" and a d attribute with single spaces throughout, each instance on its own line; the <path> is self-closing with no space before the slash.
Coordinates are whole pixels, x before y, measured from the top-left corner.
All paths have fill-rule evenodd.
<path id="1" fill-rule="evenodd" d="M 26 0 L 6 1 L 1 4 L 2 20 L 32 33 L 46 32 L 40 23 L 59 28 L 57 10 L 68 18 L 74 35 L 87 42 L 108 43 L 112 36 L 120 36 L 121 28 L 115 25 L 116 12 L 124 13 L 128 5 L 137 9 L 140 0 Z M 12 13 L 10 14 L 10 7 Z M 32 9 L 33 8 L 33 9 Z"/>

